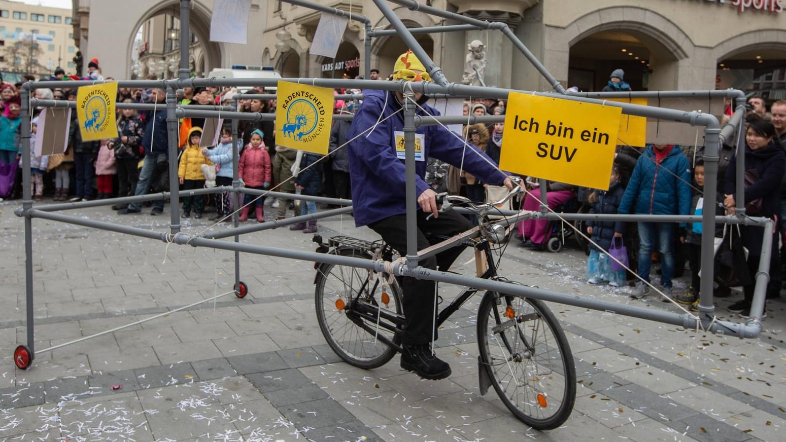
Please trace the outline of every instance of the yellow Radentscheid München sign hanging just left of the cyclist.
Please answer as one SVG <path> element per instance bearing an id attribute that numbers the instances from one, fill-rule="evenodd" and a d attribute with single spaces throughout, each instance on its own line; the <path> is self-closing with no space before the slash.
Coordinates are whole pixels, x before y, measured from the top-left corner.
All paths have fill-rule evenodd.
<path id="1" fill-rule="evenodd" d="M 333 120 L 333 89 L 278 82 L 276 95 L 276 144 L 326 155 Z"/>

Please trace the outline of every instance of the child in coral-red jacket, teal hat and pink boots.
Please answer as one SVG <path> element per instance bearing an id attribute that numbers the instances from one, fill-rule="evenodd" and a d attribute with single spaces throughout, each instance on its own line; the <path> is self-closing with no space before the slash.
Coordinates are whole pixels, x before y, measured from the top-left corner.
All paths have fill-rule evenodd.
<path id="1" fill-rule="evenodd" d="M 270 155 L 267 153 L 265 143 L 262 141 L 264 136 L 265 134 L 259 129 L 251 133 L 251 141 L 243 150 L 240 163 L 237 165 L 238 175 L 247 188 L 263 190 L 270 187 L 272 167 L 270 166 Z M 245 195 L 243 200 L 243 210 L 241 210 L 241 217 L 238 220 L 248 220 L 248 208 L 252 198 L 255 198 L 256 221 L 264 222 L 265 217 L 263 217 L 262 208 L 265 203 L 265 197 L 255 197 L 248 194 Z"/>

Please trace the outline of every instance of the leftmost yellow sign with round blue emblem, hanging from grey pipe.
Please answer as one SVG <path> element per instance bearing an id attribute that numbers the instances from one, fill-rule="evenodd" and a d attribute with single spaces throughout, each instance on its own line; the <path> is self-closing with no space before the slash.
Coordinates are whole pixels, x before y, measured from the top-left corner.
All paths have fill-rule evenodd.
<path id="1" fill-rule="evenodd" d="M 82 86 L 76 93 L 76 118 L 83 141 L 117 137 L 117 83 Z"/>

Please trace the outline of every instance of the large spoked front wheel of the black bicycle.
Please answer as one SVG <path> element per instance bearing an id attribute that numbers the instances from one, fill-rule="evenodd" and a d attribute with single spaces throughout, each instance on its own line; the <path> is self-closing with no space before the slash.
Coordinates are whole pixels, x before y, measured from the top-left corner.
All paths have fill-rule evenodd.
<path id="1" fill-rule="evenodd" d="M 487 293 L 478 310 L 480 359 L 505 407 L 534 429 L 571 415 L 576 370 L 567 338 L 542 301 Z"/>

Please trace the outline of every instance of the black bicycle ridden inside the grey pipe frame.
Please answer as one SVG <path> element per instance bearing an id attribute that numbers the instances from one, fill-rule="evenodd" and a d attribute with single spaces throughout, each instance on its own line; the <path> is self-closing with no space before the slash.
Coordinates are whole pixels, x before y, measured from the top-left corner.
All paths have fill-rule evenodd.
<path id="1" fill-rule="evenodd" d="M 474 247 L 480 278 L 518 284 L 498 276 L 497 268 L 515 219 L 491 221 L 487 214 L 498 203 L 472 203 L 446 195 L 441 211 L 464 206 L 478 214 L 479 225 L 429 247 L 461 243 Z M 507 224 L 507 226 L 505 226 Z M 394 261 L 395 250 L 382 243 L 333 236 L 318 251 L 353 258 Z M 499 251 L 498 257 L 494 252 Z M 424 251 L 421 250 L 421 253 Z M 485 268 L 483 269 L 483 266 Z M 325 340 L 340 358 L 355 367 L 372 369 L 387 363 L 402 350 L 401 276 L 391 277 L 365 268 L 315 263 L 314 301 Z M 466 287 L 439 311 L 436 326 L 444 323 L 479 289 Z M 571 414 L 575 403 L 576 374 L 567 338 L 549 308 L 537 299 L 487 291 L 478 308 L 480 394 L 489 385 L 516 418 L 535 429 L 555 429 Z"/>

